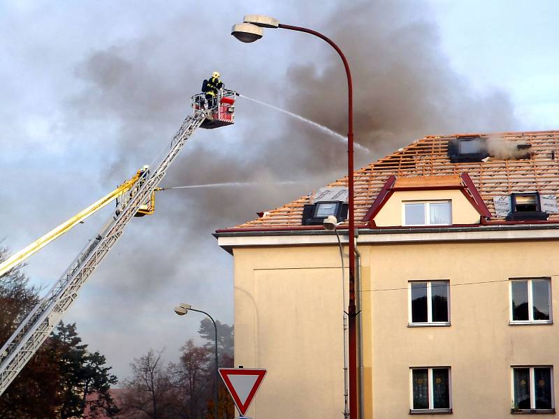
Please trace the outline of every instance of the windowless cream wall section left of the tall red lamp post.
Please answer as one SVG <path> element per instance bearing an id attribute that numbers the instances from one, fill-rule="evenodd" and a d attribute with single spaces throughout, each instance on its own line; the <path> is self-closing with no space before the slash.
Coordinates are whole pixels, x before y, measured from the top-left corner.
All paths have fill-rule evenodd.
<path id="1" fill-rule="evenodd" d="M 339 418 L 342 280 L 337 247 L 235 249 L 235 367 L 268 369 L 247 416 Z"/>

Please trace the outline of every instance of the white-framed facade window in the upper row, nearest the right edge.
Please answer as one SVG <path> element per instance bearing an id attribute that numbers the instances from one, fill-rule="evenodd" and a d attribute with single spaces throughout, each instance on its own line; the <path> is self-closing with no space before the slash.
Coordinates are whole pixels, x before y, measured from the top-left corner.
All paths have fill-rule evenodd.
<path id="1" fill-rule="evenodd" d="M 511 324 L 551 323 L 551 280 L 511 279 Z"/>

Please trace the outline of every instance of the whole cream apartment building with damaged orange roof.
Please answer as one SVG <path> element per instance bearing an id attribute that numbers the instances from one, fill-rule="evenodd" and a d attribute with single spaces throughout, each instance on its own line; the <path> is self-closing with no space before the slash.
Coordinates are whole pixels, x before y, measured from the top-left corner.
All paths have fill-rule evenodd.
<path id="1" fill-rule="evenodd" d="M 558 145 L 429 136 L 354 173 L 363 418 L 555 413 Z M 216 232 L 234 258 L 235 365 L 268 369 L 249 416 L 342 414 L 341 259 L 322 224 L 340 221 L 347 267 L 346 185 Z"/>

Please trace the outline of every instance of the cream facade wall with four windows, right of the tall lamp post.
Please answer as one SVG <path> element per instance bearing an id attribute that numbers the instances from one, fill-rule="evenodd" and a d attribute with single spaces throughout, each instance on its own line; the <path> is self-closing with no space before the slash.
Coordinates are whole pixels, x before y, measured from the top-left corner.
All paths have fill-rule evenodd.
<path id="1" fill-rule="evenodd" d="M 416 279 L 448 279 L 451 284 L 450 327 L 408 328 L 407 289 L 368 293 L 372 336 L 365 340 L 372 341 L 374 417 L 405 417 L 409 367 L 451 366 L 454 418 L 509 418 L 511 365 L 554 365 L 557 383 L 556 325 L 509 325 L 508 281 L 559 274 L 559 258 L 552 256 L 557 251 L 559 242 L 370 248 L 372 284 L 363 289 L 407 288 Z M 551 284 L 556 311 L 557 277 Z"/>

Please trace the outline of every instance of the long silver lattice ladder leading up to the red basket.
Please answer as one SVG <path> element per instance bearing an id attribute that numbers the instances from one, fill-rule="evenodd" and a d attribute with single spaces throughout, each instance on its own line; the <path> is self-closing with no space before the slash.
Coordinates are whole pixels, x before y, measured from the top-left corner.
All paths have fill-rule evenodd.
<path id="1" fill-rule="evenodd" d="M 0 395 L 59 323 L 97 265 L 119 240 L 126 224 L 138 212 L 141 205 L 149 202 L 152 192 L 166 175 L 166 170 L 205 117 L 206 111 L 199 110 L 194 116 L 184 119 L 182 126 L 173 137 L 169 152 L 157 168 L 152 171 L 151 175 L 146 174 L 143 180 L 140 179 L 136 182 L 131 191 L 124 194 L 115 214 L 110 216 L 95 238 L 89 240 L 85 249 L 78 254 L 66 272 L 2 346 L 0 349 Z"/>

